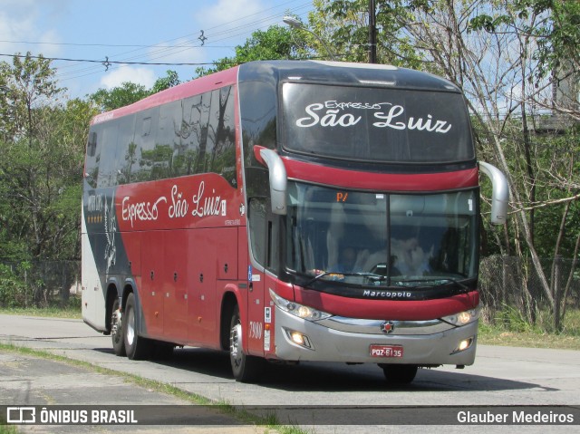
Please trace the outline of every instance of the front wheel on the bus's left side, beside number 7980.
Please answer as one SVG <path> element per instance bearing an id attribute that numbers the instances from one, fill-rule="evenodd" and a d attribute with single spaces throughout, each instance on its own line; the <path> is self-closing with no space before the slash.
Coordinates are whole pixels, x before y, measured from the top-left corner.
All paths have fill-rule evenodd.
<path id="1" fill-rule="evenodd" d="M 262 371 L 264 359 L 244 353 L 243 335 L 239 307 L 236 305 L 229 328 L 229 360 L 232 365 L 232 373 L 236 381 L 254 382 Z"/>

